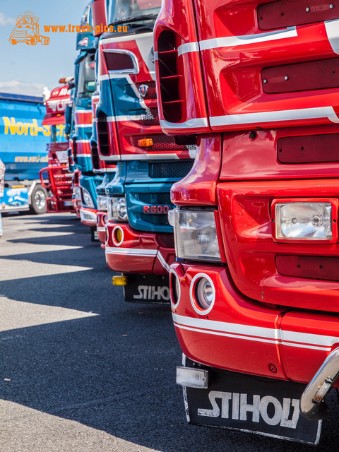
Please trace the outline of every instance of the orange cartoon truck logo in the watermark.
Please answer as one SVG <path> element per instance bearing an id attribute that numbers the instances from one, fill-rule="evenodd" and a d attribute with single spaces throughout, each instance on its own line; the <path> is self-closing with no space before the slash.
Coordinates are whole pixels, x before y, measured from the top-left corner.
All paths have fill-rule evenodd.
<path id="1" fill-rule="evenodd" d="M 39 35 L 39 18 L 33 16 L 30 11 L 25 11 L 16 19 L 16 26 L 9 37 L 11 44 L 25 42 L 29 45 L 35 45 L 41 42 L 42 45 L 49 44 L 49 37 Z"/>

